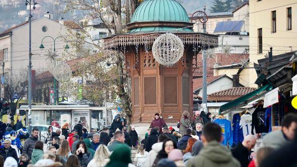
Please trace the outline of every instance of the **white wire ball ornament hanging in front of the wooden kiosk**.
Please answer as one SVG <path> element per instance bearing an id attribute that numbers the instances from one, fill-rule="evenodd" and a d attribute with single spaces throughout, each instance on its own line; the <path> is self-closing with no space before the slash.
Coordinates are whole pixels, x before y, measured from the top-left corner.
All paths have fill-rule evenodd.
<path id="1" fill-rule="evenodd" d="M 152 51 L 158 63 L 172 66 L 183 56 L 184 44 L 178 36 L 166 33 L 155 40 Z"/>

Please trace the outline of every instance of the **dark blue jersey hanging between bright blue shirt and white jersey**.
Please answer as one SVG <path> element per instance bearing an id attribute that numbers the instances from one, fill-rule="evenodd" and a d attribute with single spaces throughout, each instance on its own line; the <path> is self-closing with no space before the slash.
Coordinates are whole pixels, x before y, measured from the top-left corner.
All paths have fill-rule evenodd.
<path id="1" fill-rule="evenodd" d="M 233 145 L 236 145 L 243 141 L 243 131 L 239 125 L 241 120 L 239 113 L 234 114 L 232 120 Z"/>

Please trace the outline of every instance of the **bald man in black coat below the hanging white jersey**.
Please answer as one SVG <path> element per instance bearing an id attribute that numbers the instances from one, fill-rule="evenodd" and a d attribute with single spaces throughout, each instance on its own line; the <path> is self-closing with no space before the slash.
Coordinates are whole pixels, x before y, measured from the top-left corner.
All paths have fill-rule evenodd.
<path id="1" fill-rule="evenodd" d="M 247 135 L 243 142 L 238 143 L 231 149 L 232 155 L 240 162 L 241 167 L 247 167 L 249 165 L 249 153 L 255 144 L 256 137 L 254 135 Z"/>

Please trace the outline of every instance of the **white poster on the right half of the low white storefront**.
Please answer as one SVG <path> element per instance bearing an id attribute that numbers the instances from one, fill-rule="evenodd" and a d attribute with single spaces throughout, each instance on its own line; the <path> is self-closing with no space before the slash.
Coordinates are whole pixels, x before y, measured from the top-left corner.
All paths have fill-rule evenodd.
<path id="1" fill-rule="evenodd" d="M 73 122 L 73 127 L 79 123 L 79 121 L 82 122 L 82 125 L 84 128 L 89 129 L 90 125 L 90 114 L 89 111 L 73 111 L 72 112 L 72 122 Z"/>

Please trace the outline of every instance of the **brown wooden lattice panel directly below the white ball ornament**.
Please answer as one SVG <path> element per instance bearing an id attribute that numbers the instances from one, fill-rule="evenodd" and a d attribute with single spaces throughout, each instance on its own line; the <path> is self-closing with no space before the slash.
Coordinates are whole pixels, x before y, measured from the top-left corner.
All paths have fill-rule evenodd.
<path id="1" fill-rule="evenodd" d="M 176 76 L 164 76 L 164 104 L 177 104 L 177 78 Z"/>

